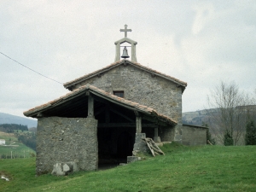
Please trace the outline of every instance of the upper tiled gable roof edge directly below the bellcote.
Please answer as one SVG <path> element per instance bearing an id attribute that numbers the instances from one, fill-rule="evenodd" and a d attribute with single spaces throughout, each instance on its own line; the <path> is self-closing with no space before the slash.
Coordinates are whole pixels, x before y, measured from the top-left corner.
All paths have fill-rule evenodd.
<path id="1" fill-rule="evenodd" d="M 145 71 L 148 71 L 148 73 L 152 73 L 152 74 L 155 74 L 155 75 L 158 75 L 162 78 L 165 78 L 165 79 L 168 79 L 168 80 L 171 80 L 172 82 L 176 83 L 176 84 L 180 84 L 181 86 L 183 86 L 184 88 L 187 86 L 187 83 L 186 82 L 183 82 L 179 79 L 175 79 L 169 75 L 166 75 L 164 73 L 160 73 L 160 72 L 157 72 L 155 71 L 154 69 L 151 69 L 149 67 L 145 67 L 143 65 L 141 65 L 140 63 L 137 63 L 137 62 L 133 62 L 133 61 L 129 61 L 129 60 L 122 60 L 122 61 L 117 61 L 117 62 L 114 62 L 112 63 L 111 65 L 108 65 L 107 67 L 103 67 L 102 69 L 99 69 L 93 73 L 89 73 L 89 74 L 86 74 L 78 79 L 74 79 L 72 81 L 69 81 L 67 83 L 64 84 L 64 87 L 69 89 L 72 85 L 74 84 L 79 84 L 81 81 L 84 81 L 85 79 L 90 79 L 98 74 L 101 74 L 101 73 L 104 73 L 110 69 L 112 69 L 113 67 L 118 67 L 119 65 L 123 64 L 123 63 L 126 63 L 126 64 L 130 64 L 134 67 L 138 67 L 142 70 L 145 70 Z"/>

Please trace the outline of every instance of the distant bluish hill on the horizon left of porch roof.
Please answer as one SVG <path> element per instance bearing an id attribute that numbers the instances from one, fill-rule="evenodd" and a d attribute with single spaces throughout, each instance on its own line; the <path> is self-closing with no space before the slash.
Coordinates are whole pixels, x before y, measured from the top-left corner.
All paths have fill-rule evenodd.
<path id="1" fill-rule="evenodd" d="M 8 113 L 0 113 L 0 124 L 19 124 L 30 127 L 37 127 L 38 120 L 26 119 Z"/>

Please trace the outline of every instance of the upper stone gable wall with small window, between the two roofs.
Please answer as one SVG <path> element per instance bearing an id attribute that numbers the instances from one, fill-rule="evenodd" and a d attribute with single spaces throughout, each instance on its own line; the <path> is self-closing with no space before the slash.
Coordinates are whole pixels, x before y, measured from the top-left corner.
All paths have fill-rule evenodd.
<path id="1" fill-rule="evenodd" d="M 124 90 L 125 99 L 154 108 L 182 123 L 182 88 L 172 81 L 152 76 L 150 73 L 133 67 L 121 65 L 101 76 L 87 79 L 73 89 L 91 84 L 113 94 L 113 90 Z"/>

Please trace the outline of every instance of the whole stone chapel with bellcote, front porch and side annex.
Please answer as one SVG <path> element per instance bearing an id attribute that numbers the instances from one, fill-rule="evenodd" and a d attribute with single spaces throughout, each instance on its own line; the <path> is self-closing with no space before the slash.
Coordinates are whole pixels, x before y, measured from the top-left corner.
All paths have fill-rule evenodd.
<path id="1" fill-rule="evenodd" d="M 55 163 L 76 162 L 80 170 L 97 170 L 104 163 L 126 162 L 142 137 L 155 143 L 207 143 L 207 129 L 182 125 L 182 95 L 187 83 L 137 62 L 137 42 L 114 44 L 114 62 L 64 84 L 65 96 L 24 114 L 38 119 L 38 175 Z M 131 44 L 131 60 L 126 47 Z M 124 59 L 123 59 L 124 58 Z"/>

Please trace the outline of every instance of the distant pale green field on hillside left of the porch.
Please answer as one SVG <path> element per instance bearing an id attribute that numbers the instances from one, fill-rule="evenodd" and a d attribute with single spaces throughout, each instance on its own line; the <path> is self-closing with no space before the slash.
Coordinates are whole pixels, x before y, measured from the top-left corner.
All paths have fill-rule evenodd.
<path id="1" fill-rule="evenodd" d="M 17 138 L 13 133 L 6 133 L 0 131 L 0 139 L 5 139 L 5 144 L 8 146 L 2 146 L 0 145 L 0 157 L 2 154 L 4 155 L 11 155 L 13 158 L 15 156 L 19 157 L 29 157 L 31 153 L 35 154 L 35 151 L 31 148 L 26 147 L 23 143 L 19 143 Z"/>

